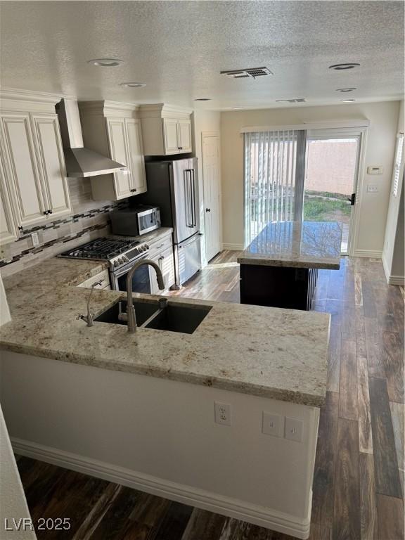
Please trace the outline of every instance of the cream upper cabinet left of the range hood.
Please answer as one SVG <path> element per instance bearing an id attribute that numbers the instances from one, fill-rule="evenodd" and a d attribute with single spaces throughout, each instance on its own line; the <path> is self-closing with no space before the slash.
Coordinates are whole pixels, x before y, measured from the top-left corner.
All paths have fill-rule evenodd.
<path id="1" fill-rule="evenodd" d="M 19 228 L 71 212 L 57 101 L 2 95 L 2 212 L 9 207 Z"/>

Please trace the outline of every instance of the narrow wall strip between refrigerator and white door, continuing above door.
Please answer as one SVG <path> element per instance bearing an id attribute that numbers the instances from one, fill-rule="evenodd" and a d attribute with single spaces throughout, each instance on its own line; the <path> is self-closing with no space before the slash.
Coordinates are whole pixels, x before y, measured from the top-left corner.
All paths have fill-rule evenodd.
<path id="1" fill-rule="evenodd" d="M 207 132 L 221 133 L 221 114 L 213 110 L 195 110 L 193 113 L 193 147 L 198 158 L 198 189 L 200 192 L 200 230 L 205 231 L 204 219 L 204 184 L 203 184 L 203 145 L 201 135 Z M 221 181 L 221 179 L 219 179 Z M 207 265 L 205 257 L 205 236 L 201 237 L 201 255 L 203 267 Z"/>

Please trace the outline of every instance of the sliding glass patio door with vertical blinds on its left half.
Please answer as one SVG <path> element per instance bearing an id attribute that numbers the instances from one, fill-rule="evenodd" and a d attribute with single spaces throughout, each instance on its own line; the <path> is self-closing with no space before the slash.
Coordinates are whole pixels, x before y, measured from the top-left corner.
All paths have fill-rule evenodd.
<path id="1" fill-rule="evenodd" d="M 353 229 L 363 131 L 245 133 L 245 245 L 274 221 L 338 221 L 342 253 Z"/>

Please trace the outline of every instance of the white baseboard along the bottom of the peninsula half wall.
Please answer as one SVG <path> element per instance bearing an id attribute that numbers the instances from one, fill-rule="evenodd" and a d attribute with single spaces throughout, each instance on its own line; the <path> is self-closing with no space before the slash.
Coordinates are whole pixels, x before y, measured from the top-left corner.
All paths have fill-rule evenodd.
<path id="1" fill-rule="evenodd" d="M 281 513 L 271 508 L 245 503 L 210 491 L 145 475 L 118 465 L 86 458 L 78 454 L 71 454 L 51 446 L 43 446 L 42 444 L 15 437 L 11 437 L 11 444 L 15 454 L 20 454 L 20 456 L 45 461 L 52 465 L 122 484 L 139 491 L 146 491 L 146 493 L 164 497 L 165 499 L 196 506 L 203 510 L 226 515 L 229 518 L 247 521 L 260 527 L 296 536 L 302 540 L 307 539 L 309 536 L 311 505 L 309 505 L 307 518 L 298 520 L 293 515 Z"/>

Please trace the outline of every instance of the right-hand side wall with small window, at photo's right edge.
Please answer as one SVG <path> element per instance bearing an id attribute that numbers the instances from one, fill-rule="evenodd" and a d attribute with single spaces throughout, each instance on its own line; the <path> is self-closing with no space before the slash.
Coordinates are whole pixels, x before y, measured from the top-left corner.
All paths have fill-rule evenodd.
<path id="1" fill-rule="evenodd" d="M 404 114 L 404 101 L 401 101 L 397 132 L 404 133 Z M 399 175 L 397 197 L 392 195 L 392 190 L 390 191 L 383 264 L 388 283 L 404 285 L 404 169 Z"/>

